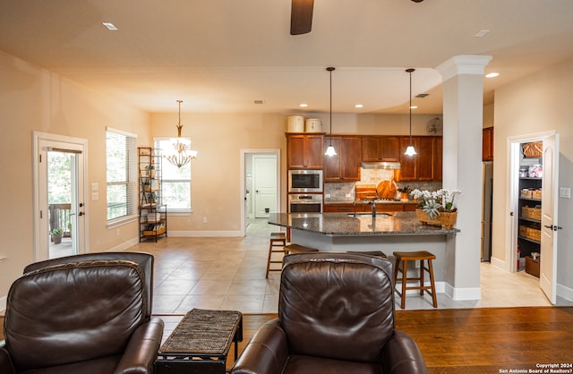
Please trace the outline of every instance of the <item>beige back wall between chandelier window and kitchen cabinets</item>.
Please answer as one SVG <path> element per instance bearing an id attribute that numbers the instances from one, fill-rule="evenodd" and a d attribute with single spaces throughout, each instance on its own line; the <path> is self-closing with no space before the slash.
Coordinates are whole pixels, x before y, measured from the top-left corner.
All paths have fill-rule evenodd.
<path id="1" fill-rule="evenodd" d="M 168 230 L 212 235 L 240 231 L 244 203 L 241 149 L 280 149 L 280 172 L 286 174 L 285 117 L 183 113 L 181 122 L 183 136 L 191 137 L 191 148 L 199 151 L 192 161 L 192 215 L 170 216 Z M 152 136 L 175 136 L 175 123 L 175 113 L 151 115 Z M 203 224 L 203 217 L 207 217 L 207 224 Z"/>

